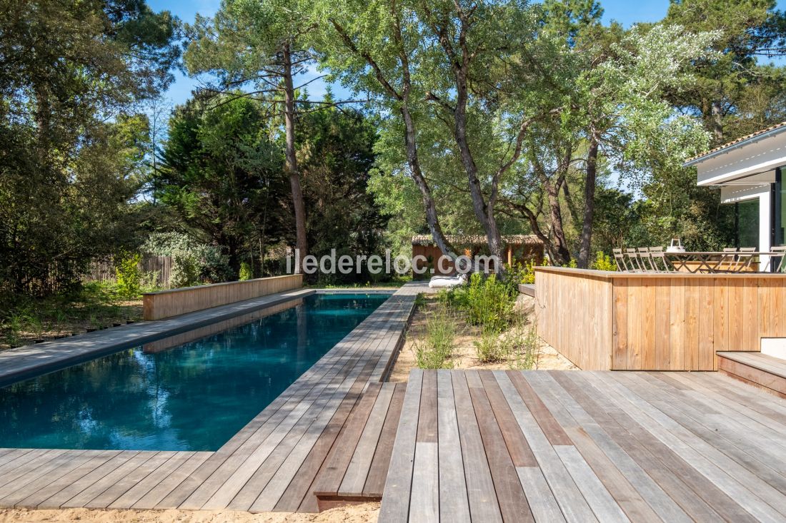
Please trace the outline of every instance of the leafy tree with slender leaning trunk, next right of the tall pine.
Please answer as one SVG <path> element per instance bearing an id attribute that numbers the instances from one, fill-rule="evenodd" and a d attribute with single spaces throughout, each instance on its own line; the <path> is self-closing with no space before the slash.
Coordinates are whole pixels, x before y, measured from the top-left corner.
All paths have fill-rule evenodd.
<path id="1" fill-rule="evenodd" d="M 320 0 L 313 2 L 311 17 L 323 21 L 314 38 L 320 64 L 354 93 L 365 93 L 369 105 L 386 116 L 380 146 L 391 148 L 378 146 L 377 152 L 401 160 L 396 174 L 410 177 L 417 187 L 436 245 L 457 258 L 443 232 L 428 172 L 421 164 L 421 125 L 428 128 L 431 124 L 419 75 L 428 49 L 423 46 L 424 27 L 413 2 Z"/>

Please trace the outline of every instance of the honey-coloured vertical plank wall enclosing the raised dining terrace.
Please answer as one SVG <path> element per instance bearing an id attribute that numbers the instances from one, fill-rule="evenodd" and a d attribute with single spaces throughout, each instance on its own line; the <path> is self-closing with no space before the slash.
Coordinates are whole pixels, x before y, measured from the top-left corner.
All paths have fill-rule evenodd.
<path id="1" fill-rule="evenodd" d="M 786 276 L 536 270 L 538 335 L 582 369 L 714 371 L 786 338 Z"/>

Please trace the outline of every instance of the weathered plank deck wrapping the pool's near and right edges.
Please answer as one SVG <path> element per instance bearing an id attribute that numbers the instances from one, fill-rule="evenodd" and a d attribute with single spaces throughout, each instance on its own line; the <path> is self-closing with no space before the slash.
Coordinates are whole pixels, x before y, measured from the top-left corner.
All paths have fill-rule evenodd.
<path id="1" fill-rule="evenodd" d="M 340 471 L 337 492 L 344 480 L 379 491 L 391 452 L 380 433 L 395 432 L 393 399 L 403 391 L 378 383 L 422 291 L 396 291 L 217 452 L 0 449 L 0 507 L 315 512 L 315 481 L 335 462 L 334 448 L 347 448 L 337 438 L 349 432 L 362 459 Z"/>

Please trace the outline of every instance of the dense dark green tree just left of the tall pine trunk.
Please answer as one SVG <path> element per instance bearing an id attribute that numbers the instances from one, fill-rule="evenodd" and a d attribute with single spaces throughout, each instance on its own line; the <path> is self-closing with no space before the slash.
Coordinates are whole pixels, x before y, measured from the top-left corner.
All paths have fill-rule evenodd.
<path id="1" fill-rule="evenodd" d="M 280 149 L 260 104 L 231 97 L 215 107 L 199 99 L 175 110 L 154 195 L 197 237 L 219 246 L 233 276 L 249 241 L 285 235 L 288 212 Z"/>

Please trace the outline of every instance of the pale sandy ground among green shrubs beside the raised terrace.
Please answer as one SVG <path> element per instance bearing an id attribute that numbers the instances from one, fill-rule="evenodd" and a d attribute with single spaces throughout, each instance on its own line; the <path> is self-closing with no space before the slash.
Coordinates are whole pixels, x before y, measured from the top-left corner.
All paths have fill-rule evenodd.
<path id="1" fill-rule="evenodd" d="M 428 308 L 427 302 L 424 305 Z M 526 316 L 531 315 L 534 307 L 534 298 L 521 295 L 516 302 L 516 312 Z M 407 334 L 406 342 L 402 346 L 399 356 L 396 358 L 395 366 L 391 371 L 389 380 L 391 382 L 406 382 L 409 378 L 410 371 L 417 367 L 415 360 L 415 342 L 422 335 L 425 326 L 425 313 L 424 308 L 421 307 L 413 315 L 412 322 Z M 527 327 L 532 327 L 528 324 Z M 511 364 L 507 361 L 500 361 L 492 364 L 482 363 L 477 358 L 477 352 L 473 342 L 479 338 L 479 329 L 466 325 L 461 327 L 456 336 L 454 345 L 454 354 L 450 360 L 453 362 L 454 369 L 509 369 Z M 566 357 L 556 352 L 549 344 L 543 342 L 538 338 L 540 346 L 538 348 L 538 357 L 535 360 L 535 369 L 543 370 L 571 370 L 577 369 L 574 364 L 567 360 Z"/>

